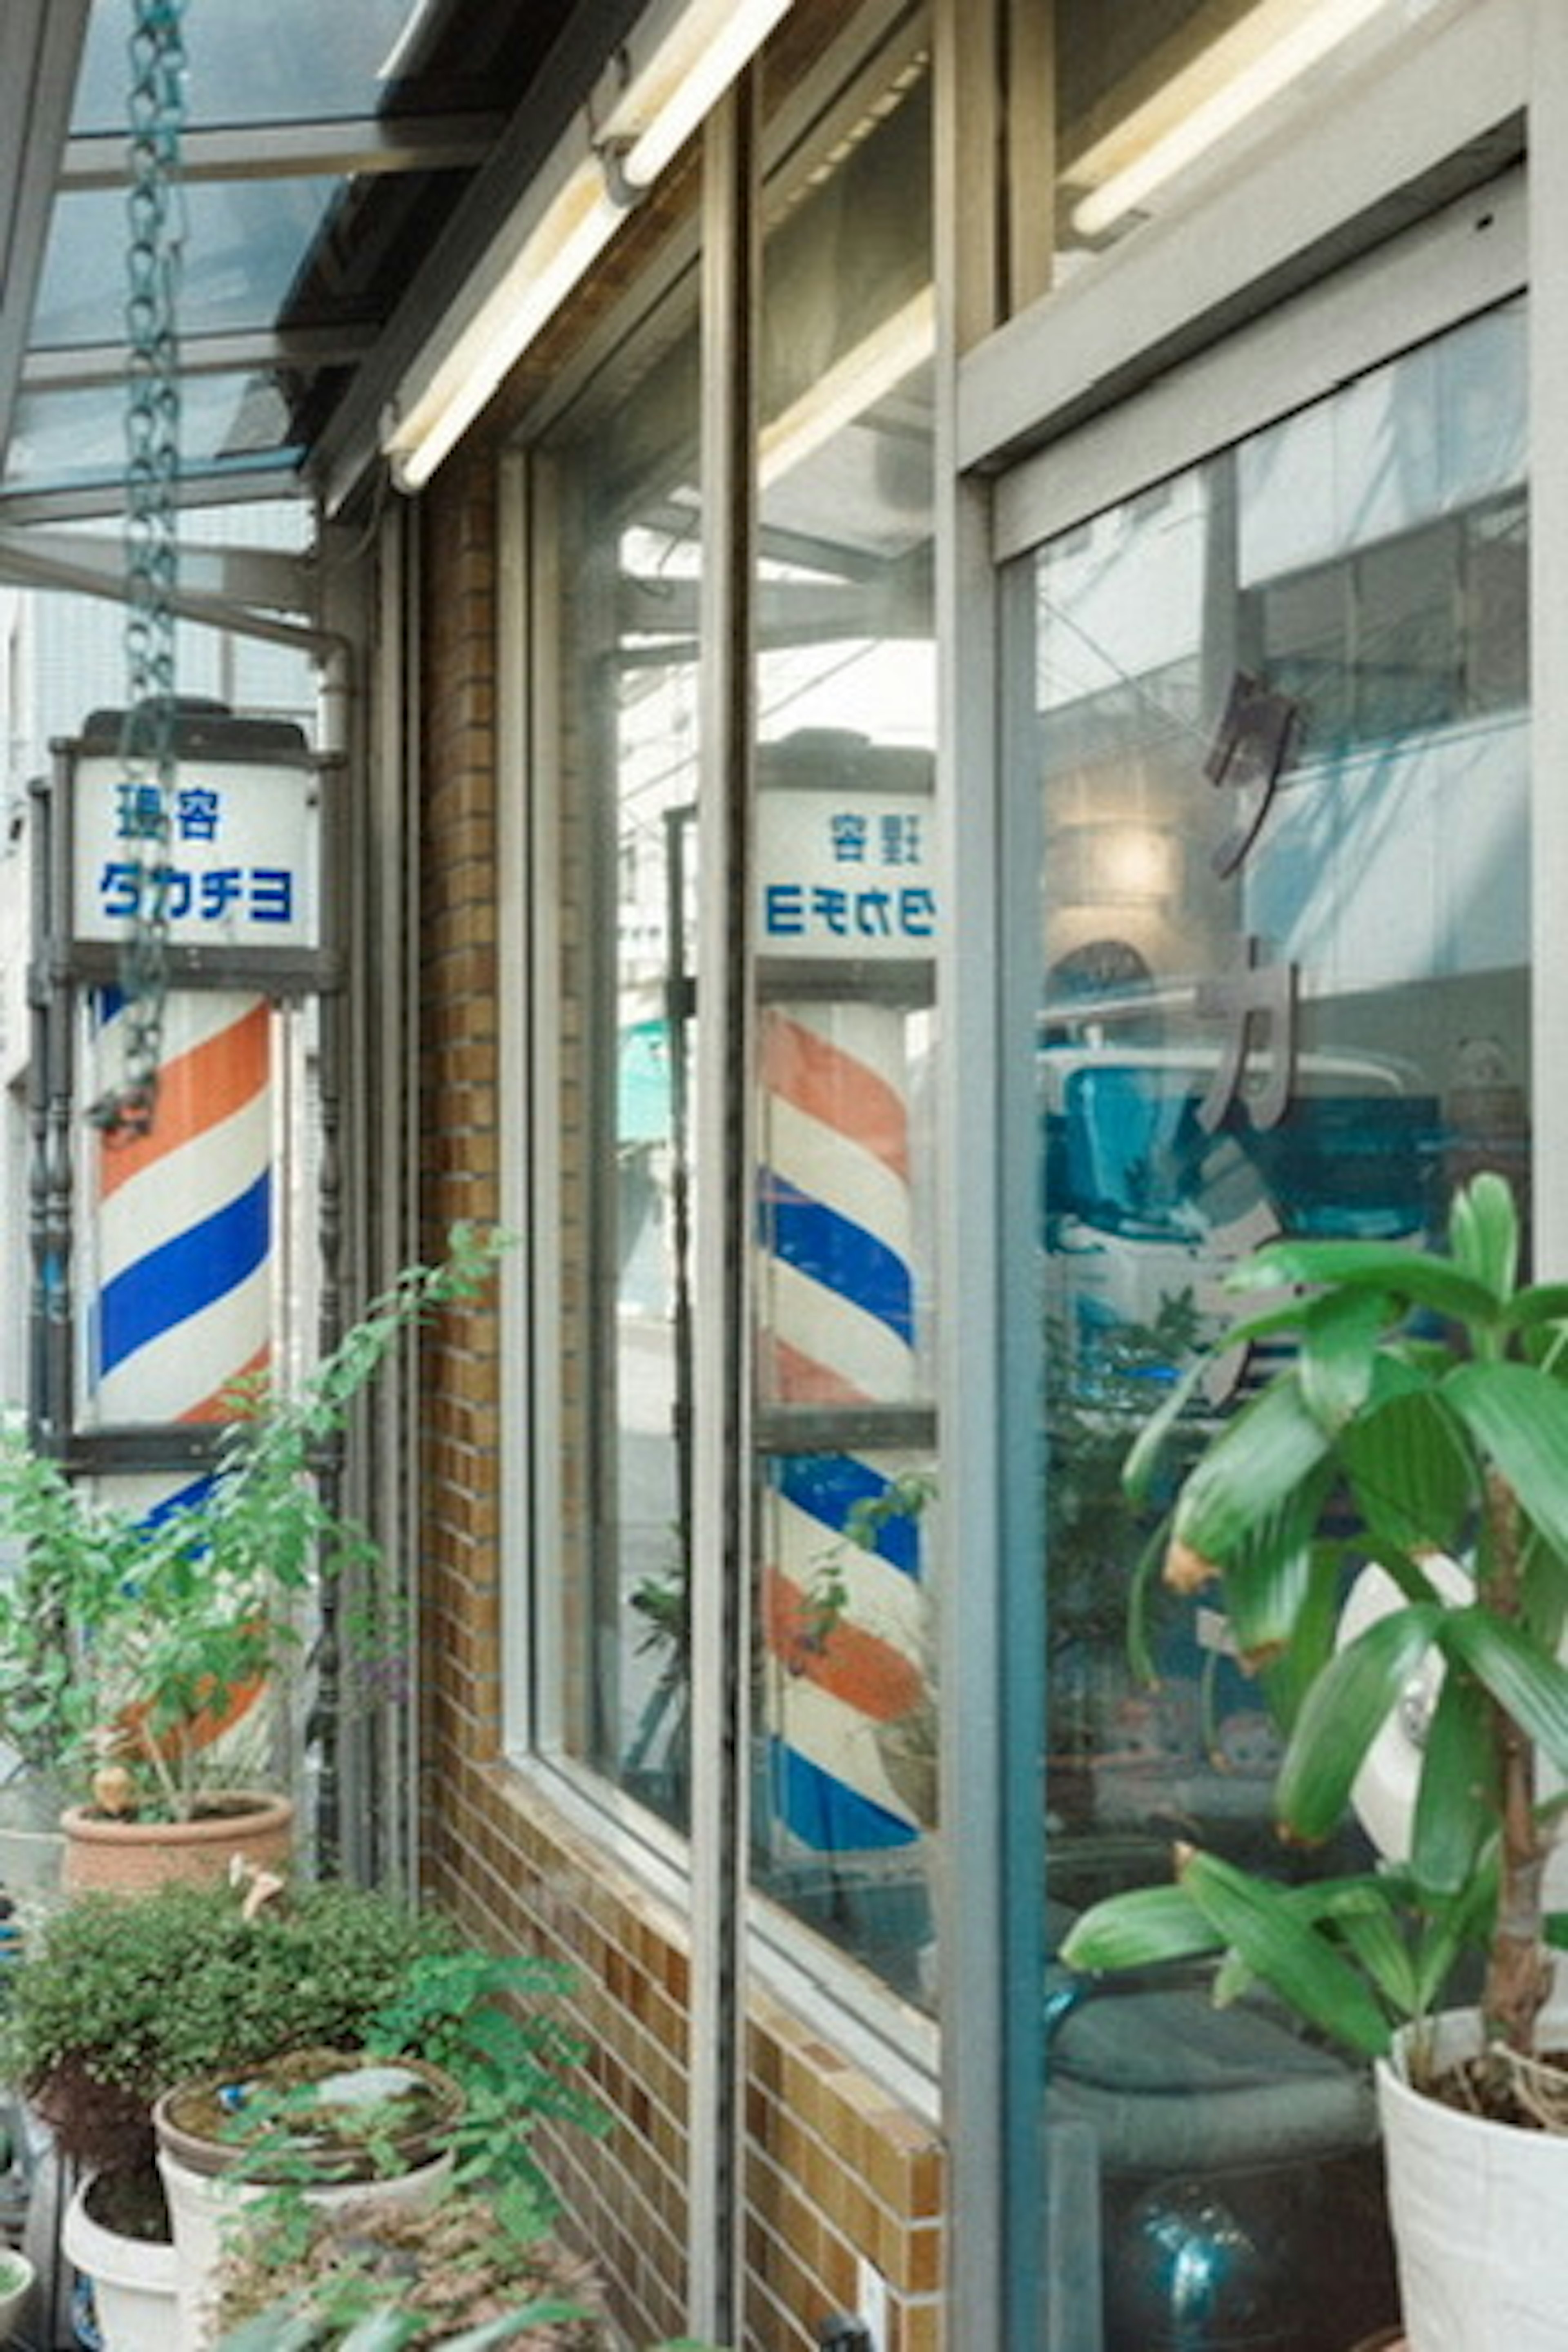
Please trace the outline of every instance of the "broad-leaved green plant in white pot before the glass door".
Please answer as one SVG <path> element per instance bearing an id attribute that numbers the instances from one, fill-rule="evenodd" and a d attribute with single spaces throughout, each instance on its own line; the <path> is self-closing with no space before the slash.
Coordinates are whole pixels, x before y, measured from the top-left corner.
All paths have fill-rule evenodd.
<path id="1" fill-rule="evenodd" d="M 1164 1578 L 1222 1588 L 1286 1731 L 1274 1802 L 1291 1842 L 1342 1825 L 1375 1743 L 1429 1693 L 1408 1851 L 1281 1886 L 1178 1849 L 1175 1884 L 1091 1907 L 1063 1959 L 1213 1957 L 1222 1994 L 1267 1980 L 1373 2058 L 1413 2352 L 1544 2352 L 1568 2340 L 1542 2220 L 1568 2194 L 1568 2143 L 1540 2129 L 1568 2112 L 1568 2032 L 1547 2006 L 1568 1776 L 1568 1287 L 1519 1279 L 1514 1200 L 1488 1174 L 1455 1197 L 1446 1254 L 1286 1240 L 1232 1287 L 1276 1296 L 1220 1345 L 1291 1331 L 1295 1355 L 1182 1479 Z M 1140 1435 L 1135 1494 L 1199 1376 Z M 1373 1609 L 1368 1576 L 1387 1581 Z M 1439 2013 L 1467 1955 L 1479 2002 Z"/>

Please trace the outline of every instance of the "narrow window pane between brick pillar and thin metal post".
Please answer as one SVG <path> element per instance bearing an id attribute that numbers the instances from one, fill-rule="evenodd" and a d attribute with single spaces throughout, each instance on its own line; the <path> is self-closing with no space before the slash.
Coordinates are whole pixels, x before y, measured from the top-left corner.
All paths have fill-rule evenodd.
<path id="1" fill-rule="evenodd" d="M 557 1294 L 541 1559 L 564 1752 L 686 1818 L 701 510 L 677 292 L 541 468 L 557 597 L 538 1162 Z"/>

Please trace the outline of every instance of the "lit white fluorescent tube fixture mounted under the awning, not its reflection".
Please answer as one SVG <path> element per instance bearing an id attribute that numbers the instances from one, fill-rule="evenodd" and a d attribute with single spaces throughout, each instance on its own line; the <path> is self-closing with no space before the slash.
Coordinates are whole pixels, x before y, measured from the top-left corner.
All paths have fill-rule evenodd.
<path id="1" fill-rule="evenodd" d="M 491 252 L 397 386 L 381 447 L 421 489 L 592 268 L 625 205 L 658 179 L 792 0 L 654 0 L 607 96 L 557 143 Z"/>

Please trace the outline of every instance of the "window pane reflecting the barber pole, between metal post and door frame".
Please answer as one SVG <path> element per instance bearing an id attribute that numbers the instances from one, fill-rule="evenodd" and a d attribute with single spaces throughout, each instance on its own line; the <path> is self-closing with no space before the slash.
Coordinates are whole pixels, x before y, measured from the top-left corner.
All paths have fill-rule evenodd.
<path id="1" fill-rule="evenodd" d="M 936 663 L 924 64 L 766 193 L 757 1884 L 933 1990 Z"/>

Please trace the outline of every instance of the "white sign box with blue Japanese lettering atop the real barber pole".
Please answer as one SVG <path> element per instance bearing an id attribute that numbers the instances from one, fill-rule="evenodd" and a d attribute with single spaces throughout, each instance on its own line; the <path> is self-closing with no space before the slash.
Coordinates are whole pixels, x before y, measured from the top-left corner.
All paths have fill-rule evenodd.
<path id="1" fill-rule="evenodd" d="M 188 948 L 320 946 L 317 779 L 306 767 L 193 760 L 165 809 L 120 760 L 75 767 L 73 931 L 120 941 L 162 913 Z"/>

